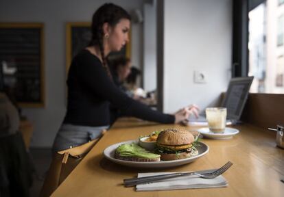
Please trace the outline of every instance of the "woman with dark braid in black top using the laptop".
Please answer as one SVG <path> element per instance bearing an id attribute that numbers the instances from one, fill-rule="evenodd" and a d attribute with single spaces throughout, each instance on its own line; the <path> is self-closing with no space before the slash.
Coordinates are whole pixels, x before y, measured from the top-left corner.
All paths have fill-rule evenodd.
<path id="1" fill-rule="evenodd" d="M 123 8 L 106 3 L 93 14 L 92 40 L 86 49 L 73 58 L 67 86 L 67 113 L 56 135 L 53 151 L 79 146 L 101 135 L 108 129 L 109 104 L 129 116 L 161 123 L 178 123 L 190 114 L 198 116 L 194 105 L 176 114 L 154 111 L 123 93 L 115 83 L 106 64 L 111 51 L 119 51 L 128 42 L 130 15 Z"/>

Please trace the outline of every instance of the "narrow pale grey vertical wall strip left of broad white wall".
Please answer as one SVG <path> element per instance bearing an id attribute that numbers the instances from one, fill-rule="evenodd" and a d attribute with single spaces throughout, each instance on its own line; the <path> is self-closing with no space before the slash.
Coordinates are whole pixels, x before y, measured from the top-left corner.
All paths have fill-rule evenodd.
<path id="1" fill-rule="evenodd" d="M 157 86 L 156 66 L 156 4 L 144 4 L 143 21 L 143 88 L 152 91 Z"/>

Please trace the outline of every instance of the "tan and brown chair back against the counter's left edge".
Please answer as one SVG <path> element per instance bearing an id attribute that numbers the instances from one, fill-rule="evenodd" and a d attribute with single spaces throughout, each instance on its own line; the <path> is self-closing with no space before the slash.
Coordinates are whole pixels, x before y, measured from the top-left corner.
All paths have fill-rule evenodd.
<path id="1" fill-rule="evenodd" d="M 102 131 L 104 135 L 106 131 Z M 95 146 L 100 138 L 92 140 L 81 146 L 61 150 L 54 155 L 49 171 L 40 191 L 40 196 L 51 196 L 56 188 L 67 178 L 72 170 L 82 161 L 84 156 Z"/>

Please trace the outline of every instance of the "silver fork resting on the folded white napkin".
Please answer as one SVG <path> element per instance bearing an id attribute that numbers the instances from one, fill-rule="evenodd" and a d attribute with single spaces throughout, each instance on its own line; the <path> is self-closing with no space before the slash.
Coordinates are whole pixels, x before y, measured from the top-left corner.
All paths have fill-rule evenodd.
<path id="1" fill-rule="evenodd" d="M 134 185 L 139 185 L 142 183 L 150 183 L 155 181 L 160 181 L 164 179 L 171 179 L 178 176 L 190 176 L 190 175 L 196 175 L 200 176 L 202 179 L 214 179 L 215 177 L 219 176 L 220 174 L 223 174 L 232 166 L 233 163 L 228 161 L 224 166 L 217 170 L 210 170 L 211 172 L 208 172 L 209 170 L 198 171 L 198 172 L 178 172 L 178 173 L 172 173 L 172 174 L 163 174 L 163 175 L 156 175 L 156 176 L 145 176 L 141 178 L 134 178 L 134 179 L 124 179 L 123 183 L 126 187 L 132 187 Z"/>

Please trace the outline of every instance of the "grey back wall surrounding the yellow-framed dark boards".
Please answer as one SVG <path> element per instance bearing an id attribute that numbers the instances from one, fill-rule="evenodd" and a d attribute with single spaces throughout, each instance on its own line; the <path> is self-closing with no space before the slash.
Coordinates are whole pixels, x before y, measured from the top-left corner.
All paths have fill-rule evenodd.
<path id="1" fill-rule="evenodd" d="M 130 11 L 143 9 L 144 0 L 113 0 Z M 45 109 L 23 109 L 34 124 L 32 146 L 51 146 L 65 114 L 65 23 L 91 21 L 103 0 L 0 1 L 0 22 L 40 22 L 45 24 Z M 132 62 L 142 62 L 141 24 L 132 25 Z"/>

